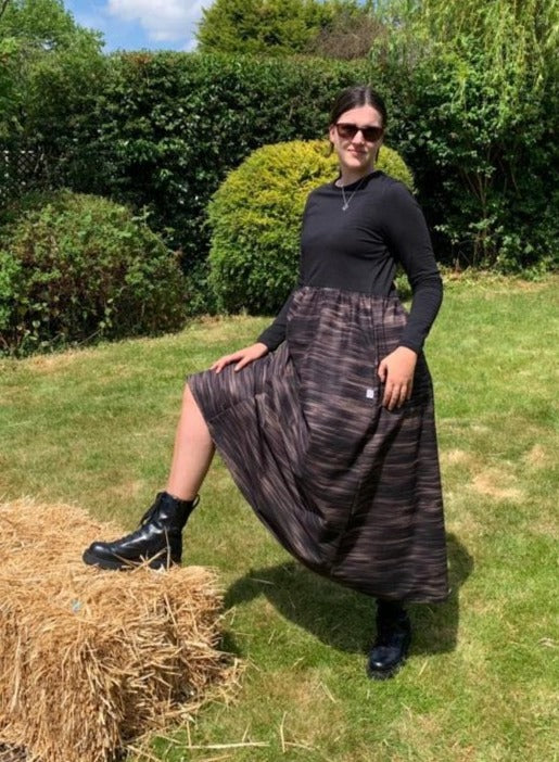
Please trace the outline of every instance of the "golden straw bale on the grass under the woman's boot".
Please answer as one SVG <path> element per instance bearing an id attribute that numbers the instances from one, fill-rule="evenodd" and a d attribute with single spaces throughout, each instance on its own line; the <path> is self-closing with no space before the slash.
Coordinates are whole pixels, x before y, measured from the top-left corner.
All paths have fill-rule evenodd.
<path id="1" fill-rule="evenodd" d="M 76 506 L 0 503 L 0 751 L 107 762 L 228 698 L 239 664 L 217 649 L 214 570 L 87 567 L 89 543 L 123 532 Z"/>

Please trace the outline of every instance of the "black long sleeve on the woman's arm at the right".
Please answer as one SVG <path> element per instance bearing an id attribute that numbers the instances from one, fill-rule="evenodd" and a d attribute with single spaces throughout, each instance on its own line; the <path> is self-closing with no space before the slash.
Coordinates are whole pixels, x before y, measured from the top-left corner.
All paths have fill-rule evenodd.
<path id="1" fill-rule="evenodd" d="M 443 281 L 421 207 L 403 183 L 394 183 L 385 199 L 384 231 L 393 255 L 411 287 L 408 322 L 399 346 L 421 351 L 443 301 Z"/>

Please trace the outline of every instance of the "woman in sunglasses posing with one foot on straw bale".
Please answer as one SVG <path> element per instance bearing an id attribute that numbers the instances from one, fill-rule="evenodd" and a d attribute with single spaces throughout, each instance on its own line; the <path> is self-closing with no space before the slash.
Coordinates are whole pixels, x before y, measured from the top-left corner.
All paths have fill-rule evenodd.
<path id="1" fill-rule="evenodd" d="M 257 517 L 309 569 L 377 599 L 368 673 L 405 660 L 405 602 L 448 597 L 423 342 L 442 300 L 424 217 L 374 168 L 382 98 L 347 88 L 330 116 L 340 174 L 307 198 L 300 277 L 254 344 L 189 374 L 166 490 L 140 528 L 93 543 L 87 563 L 179 562 L 181 531 L 215 447 Z M 393 283 L 401 264 L 409 314 Z"/>

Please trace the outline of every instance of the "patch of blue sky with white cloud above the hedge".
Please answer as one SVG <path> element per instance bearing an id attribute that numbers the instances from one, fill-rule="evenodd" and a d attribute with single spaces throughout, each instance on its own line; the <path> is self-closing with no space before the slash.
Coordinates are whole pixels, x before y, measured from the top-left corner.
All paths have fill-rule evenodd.
<path id="1" fill-rule="evenodd" d="M 212 0 L 64 0 L 80 26 L 103 33 L 107 53 L 193 50 L 202 8 L 211 4 Z"/>

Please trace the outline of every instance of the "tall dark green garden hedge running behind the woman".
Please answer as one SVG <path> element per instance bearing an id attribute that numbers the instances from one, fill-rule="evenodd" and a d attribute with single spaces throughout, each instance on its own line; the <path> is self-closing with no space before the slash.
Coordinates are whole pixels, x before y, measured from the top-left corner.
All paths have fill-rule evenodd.
<path id="1" fill-rule="evenodd" d="M 552 266 L 557 88 L 537 100 L 526 91 L 504 119 L 480 51 L 416 52 L 351 63 L 167 51 L 82 67 L 53 59 L 30 68 L 21 129 L 4 144 L 36 152 L 34 183 L 149 208 L 181 251 L 198 294 L 189 308 L 204 309 L 206 207 L 227 173 L 262 145 L 323 137 L 335 93 L 370 81 L 386 97 L 386 138 L 414 172 L 439 261 Z"/>

